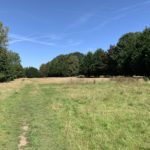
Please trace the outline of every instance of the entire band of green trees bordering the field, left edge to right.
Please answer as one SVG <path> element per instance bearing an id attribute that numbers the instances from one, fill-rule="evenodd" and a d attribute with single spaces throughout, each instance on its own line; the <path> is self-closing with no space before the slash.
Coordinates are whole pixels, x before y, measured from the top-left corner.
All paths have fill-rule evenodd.
<path id="1" fill-rule="evenodd" d="M 124 34 L 105 51 L 59 55 L 35 67 L 23 68 L 19 54 L 8 49 L 8 28 L 0 22 L 0 82 L 21 77 L 150 76 L 150 28 Z"/>

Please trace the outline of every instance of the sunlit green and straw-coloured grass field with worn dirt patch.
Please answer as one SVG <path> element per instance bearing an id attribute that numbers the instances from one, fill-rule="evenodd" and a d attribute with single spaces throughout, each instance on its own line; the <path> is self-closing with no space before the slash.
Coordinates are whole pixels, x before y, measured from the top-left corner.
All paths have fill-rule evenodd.
<path id="1" fill-rule="evenodd" d="M 150 83 L 19 79 L 0 84 L 0 150 L 150 150 Z"/>

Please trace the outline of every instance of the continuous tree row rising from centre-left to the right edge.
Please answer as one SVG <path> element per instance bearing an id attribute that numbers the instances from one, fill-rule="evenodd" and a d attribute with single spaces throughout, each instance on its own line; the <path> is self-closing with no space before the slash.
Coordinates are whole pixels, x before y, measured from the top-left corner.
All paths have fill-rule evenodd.
<path id="1" fill-rule="evenodd" d="M 124 34 L 105 51 L 60 55 L 40 66 L 43 77 L 150 76 L 150 28 Z"/>

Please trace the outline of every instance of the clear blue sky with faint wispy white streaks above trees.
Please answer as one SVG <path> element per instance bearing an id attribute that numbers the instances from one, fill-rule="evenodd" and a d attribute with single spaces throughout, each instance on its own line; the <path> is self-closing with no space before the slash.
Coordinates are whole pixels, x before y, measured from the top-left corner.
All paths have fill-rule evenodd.
<path id="1" fill-rule="evenodd" d="M 125 33 L 150 27 L 150 0 L 1 0 L 10 50 L 24 67 L 60 54 L 108 50 Z"/>

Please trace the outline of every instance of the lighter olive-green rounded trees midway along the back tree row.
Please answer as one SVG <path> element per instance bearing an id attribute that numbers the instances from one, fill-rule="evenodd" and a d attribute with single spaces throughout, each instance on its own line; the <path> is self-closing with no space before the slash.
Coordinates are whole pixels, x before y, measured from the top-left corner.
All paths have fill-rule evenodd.
<path id="1" fill-rule="evenodd" d="M 46 68 L 48 68 L 48 76 L 69 77 L 78 75 L 83 56 L 84 55 L 79 52 L 68 55 L 59 55 L 46 64 Z"/>

